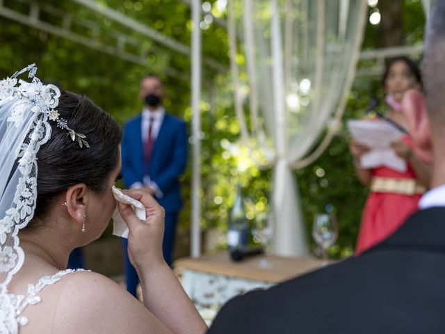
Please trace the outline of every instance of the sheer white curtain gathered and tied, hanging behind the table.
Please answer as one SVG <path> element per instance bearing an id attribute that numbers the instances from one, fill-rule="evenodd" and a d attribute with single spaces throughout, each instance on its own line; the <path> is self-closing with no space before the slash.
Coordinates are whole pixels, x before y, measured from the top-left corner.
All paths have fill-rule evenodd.
<path id="1" fill-rule="evenodd" d="M 275 166 L 275 253 L 305 255 L 307 240 L 293 170 L 318 158 L 341 124 L 362 43 L 366 1 L 229 1 L 234 5 L 243 9 L 236 11 L 243 13 L 239 29 L 229 33 L 233 42 L 234 33 L 243 32 L 249 135 L 258 136 L 261 147 L 265 133 L 275 149 L 270 161 Z"/>

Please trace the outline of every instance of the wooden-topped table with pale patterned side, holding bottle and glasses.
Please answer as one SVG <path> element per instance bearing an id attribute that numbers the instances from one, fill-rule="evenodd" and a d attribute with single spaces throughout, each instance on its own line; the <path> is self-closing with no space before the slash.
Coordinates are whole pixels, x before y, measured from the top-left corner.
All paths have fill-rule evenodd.
<path id="1" fill-rule="evenodd" d="M 260 267 L 261 255 L 241 262 L 229 260 L 227 250 L 175 261 L 175 272 L 198 310 L 215 312 L 229 299 L 252 289 L 266 289 L 321 267 L 312 257 L 267 257 L 268 268 Z M 213 312 L 214 313 L 214 312 Z M 212 313 L 212 314 L 213 314 Z"/>

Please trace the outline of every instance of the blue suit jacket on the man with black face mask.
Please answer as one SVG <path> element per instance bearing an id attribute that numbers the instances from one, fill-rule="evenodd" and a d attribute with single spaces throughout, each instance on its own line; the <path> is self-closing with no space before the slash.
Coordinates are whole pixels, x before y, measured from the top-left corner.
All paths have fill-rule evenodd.
<path id="1" fill-rule="evenodd" d="M 154 141 L 149 166 L 144 166 L 144 145 L 141 134 L 142 117 L 124 125 L 122 138 L 122 174 L 125 186 L 143 183 L 147 168 L 150 180 L 159 186 L 162 198 L 156 198 L 166 212 L 181 209 L 179 175 L 184 172 L 187 159 L 186 123 L 165 113 L 159 134 Z"/>

